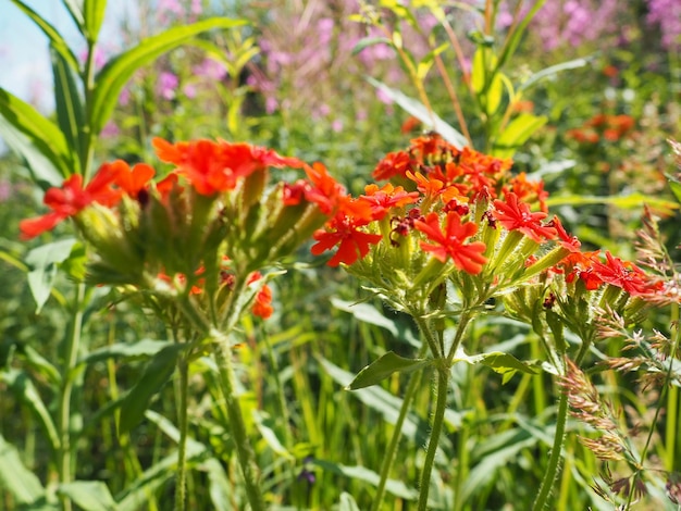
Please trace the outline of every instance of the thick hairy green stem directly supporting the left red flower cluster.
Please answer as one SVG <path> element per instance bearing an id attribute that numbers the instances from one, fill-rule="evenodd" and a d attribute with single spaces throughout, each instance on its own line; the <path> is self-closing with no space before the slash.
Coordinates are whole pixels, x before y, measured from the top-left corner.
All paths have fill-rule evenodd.
<path id="1" fill-rule="evenodd" d="M 264 500 L 258 484 L 258 465 L 246 434 L 246 424 L 244 423 L 242 408 L 236 396 L 236 376 L 232 361 L 232 349 L 226 338 L 216 339 L 214 357 L 218 363 L 220 386 L 227 408 L 230 431 L 236 447 L 236 456 L 242 468 L 242 474 L 244 475 L 248 502 L 251 511 L 264 511 Z"/>

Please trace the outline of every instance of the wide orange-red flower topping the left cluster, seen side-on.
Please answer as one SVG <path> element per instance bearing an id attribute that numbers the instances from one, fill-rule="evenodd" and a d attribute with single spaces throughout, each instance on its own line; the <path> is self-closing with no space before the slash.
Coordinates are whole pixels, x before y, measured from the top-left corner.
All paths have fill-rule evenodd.
<path id="1" fill-rule="evenodd" d="M 268 166 L 302 166 L 298 159 L 248 144 L 196 140 L 173 145 L 162 138 L 154 138 L 152 144 L 159 159 L 174 163 L 177 174 L 184 175 L 205 196 L 232 190 L 239 179 Z"/>

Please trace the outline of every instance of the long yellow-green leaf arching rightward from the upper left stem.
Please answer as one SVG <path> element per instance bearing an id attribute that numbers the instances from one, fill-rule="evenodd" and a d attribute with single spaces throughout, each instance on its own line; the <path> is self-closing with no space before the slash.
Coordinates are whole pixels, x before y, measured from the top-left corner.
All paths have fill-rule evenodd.
<path id="1" fill-rule="evenodd" d="M 138 68 L 201 33 L 213 28 L 233 28 L 245 23 L 240 20 L 213 17 L 191 25 L 176 26 L 144 39 L 138 46 L 110 60 L 95 79 L 90 120 L 92 134 L 98 135 L 104 127 L 119 102 L 121 90 Z"/>

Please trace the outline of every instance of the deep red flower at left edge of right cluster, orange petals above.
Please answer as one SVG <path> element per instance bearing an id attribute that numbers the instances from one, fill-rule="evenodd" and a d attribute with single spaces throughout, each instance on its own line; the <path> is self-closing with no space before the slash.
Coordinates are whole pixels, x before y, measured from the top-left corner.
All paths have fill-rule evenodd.
<path id="1" fill-rule="evenodd" d="M 326 229 L 314 233 L 317 244 L 310 251 L 319 256 L 337 245 L 338 250 L 327 264 L 330 266 L 337 266 L 340 263 L 352 264 L 358 258 L 363 259 L 371 250 L 371 245 L 376 245 L 382 239 L 380 234 L 369 234 L 360 229 L 371 222 L 371 205 L 360 199 L 348 197 L 340 204 L 336 215 L 329 221 Z"/>

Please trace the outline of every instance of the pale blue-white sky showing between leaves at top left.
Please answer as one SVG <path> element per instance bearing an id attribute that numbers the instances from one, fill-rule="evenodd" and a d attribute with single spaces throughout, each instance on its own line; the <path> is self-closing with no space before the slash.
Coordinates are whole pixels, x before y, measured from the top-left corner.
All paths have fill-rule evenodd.
<path id="1" fill-rule="evenodd" d="M 57 28 L 77 49 L 76 55 L 85 48 L 62 1 L 24 0 L 24 3 Z M 133 4 L 133 0 L 108 2 L 101 40 L 116 38 L 119 22 Z M 0 0 L 0 87 L 37 105 L 44 113 L 54 108 L 48 39 L 10 0 Z"/>

